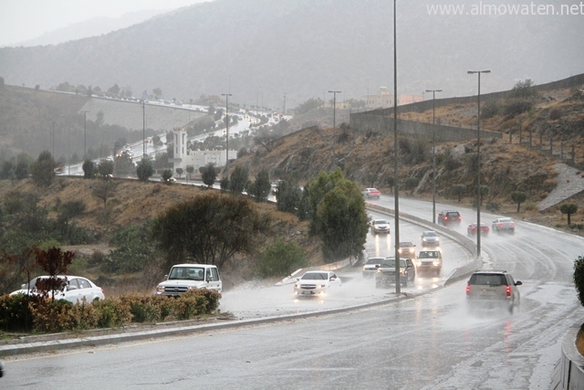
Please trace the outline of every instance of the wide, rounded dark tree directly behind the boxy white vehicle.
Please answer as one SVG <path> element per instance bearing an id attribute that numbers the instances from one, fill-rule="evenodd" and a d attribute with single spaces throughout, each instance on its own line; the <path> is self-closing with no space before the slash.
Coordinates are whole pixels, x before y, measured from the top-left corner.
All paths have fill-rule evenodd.
<path id="1" fill-rule="evenodd" d="M 170 264 L 189 258 L 221 268 L 236 253 L 252 253 L 268 225 L 246 197 L 207 193 L 168 208 L 152 237 Z"/>

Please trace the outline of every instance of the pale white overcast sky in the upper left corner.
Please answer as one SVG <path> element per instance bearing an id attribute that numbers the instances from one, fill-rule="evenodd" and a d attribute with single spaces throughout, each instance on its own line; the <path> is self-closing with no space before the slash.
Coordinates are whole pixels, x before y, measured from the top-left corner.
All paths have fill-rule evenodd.
<path id="1" fill-rule="evenodd" d="M 0 47 L 39 37 L 96 16 L 160 9 L 211 0 L 0 0 Z"/>

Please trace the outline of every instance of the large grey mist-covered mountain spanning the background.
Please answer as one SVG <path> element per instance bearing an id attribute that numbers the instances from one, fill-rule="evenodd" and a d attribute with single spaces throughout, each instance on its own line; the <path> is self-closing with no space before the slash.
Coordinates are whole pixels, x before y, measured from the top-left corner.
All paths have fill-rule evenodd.
<path id="1" fill-rule="evenodd" d="M 397 2 L 400 94 L 476 94 L 471 69 L 492 70 L 483 92 L 584 71 L 582 15 L 470 15 L 478 0 L 448 2 L 469 15 L 431 15 L 428 6 L 438 4 Z M 328 90 L 341 90 L 340 100 L 392 90 L 392 47 L 391 1 L 215 0 L 100 37 L 1 48 L 0 77 L 43 89 L 65 81 L 102 90 L 117 83 L 136 96 L 161 88 L 165 98 L 180 100 L 230 92 L 234 102 L 281 109 L 285 101 L 291 108 L 330 100 Z"/>

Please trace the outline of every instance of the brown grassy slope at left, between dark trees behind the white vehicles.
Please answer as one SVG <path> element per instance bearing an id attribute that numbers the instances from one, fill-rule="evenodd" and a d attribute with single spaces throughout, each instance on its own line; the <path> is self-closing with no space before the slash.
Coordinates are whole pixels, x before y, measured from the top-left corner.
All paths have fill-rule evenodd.
<path id="1" fill-rule="evenodd" d="M 85 205 L 85 211 L 82 215 L 76 216 L 72 222 L 78 227 L 85 227 L 92 237 L 93 243 L 63 248 L 76 251 L 78 255 L 89 258 L 95 252 L 108 252 L 111 249 L 109 246 L 111 234 L 120 227 L 141 225 L 148 219 L 159 216 L 169 206 L 179 204 L 205 191 L 210 191 L 194 185 L 165 185 L 153 182 L 144 184 L 134 180 L 119 179 L 115 195 L 108 200 L 108 206 L 105 207 L 102 200 L 92 195 L 93 188 L 99 180 L 57 177 L 55 182 L 44 191 L 40 191 L 30 179 L 16 183 L 1 180 L 0 199 L 5 199 L 6 194 L 14 191 L 22 195 L 36 194 L 39 197 L 38 206 L 49 210 L 48 217 L 57 217 L 54 210 L 61 202 L 81 201 Z M 296 216 L 276 211 L 276 206 L 273 204 L 261 203 L 255 204 L 255 207 L 260 213 L 271 218 L 270 233 L 265 237 L 264 242 L 271 242 L 275 237 L 284 238 L 286 241 L 293 240 L 300 248 L 307 250 L 310 264 L 324 263 L 319 239 L 308 237 L 307 222 L 298 221 Z M 257 248 L 257 250 L 259 252 L 261 248 Z M 253 269 L 250 259 L 248 257 L 235 258 L 229 266 L 222 269 L 225 288 L 228 289 L 243 279 L 252 277 Z M 110 291 L 136 290 L 137 284 L 133 276 L 125 275 L 121 278 L 102 275 L 98 269 L 84 269 L 83 274 L 92 279 L 102 277 L 104 280 L 109 280 L 110 285 L 102 285 L 101 287 L 108 287 Z M 138 280 L 141 280 L 143 284 L 148 279 L 146 281 L 151 285 L 160 281 L 162 276 L 161 271 L 147 270 Z M 128 286 L 125 287 L 125 285 Z"/>

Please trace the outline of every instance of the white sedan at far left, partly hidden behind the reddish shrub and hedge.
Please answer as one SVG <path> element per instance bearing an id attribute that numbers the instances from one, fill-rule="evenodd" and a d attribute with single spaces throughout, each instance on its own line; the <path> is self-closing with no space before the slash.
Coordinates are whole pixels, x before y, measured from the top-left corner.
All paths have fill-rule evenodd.
<path id="1" fill-rule="evenodd" d="M 94 282 L 89 279 L 81 278 L 78 276 L 71 276 L 71 275 L 57 275 L 60 279 L 66 279 L 65 286 L 61 290 L 55 291 L 55 299 L 56 300 L 68 300 L 71 303 L 76 303 L 80 300 L 87 300 L 88 302 L 92 302 L 93 300 L 104 300 L 105 295 L 103 293 L 103 289 L 98 287 Z M 39 276 L 35 279 L 31 279 L 30 283 L 23 283 L 20 286 L 20 290 L 16 290 L 10 293 L 10 295 L 16 294 L 30 294 L 36 295 L 39 294 L 38 290 L 36 290 L 36 281 L 38 279 L 48 279 L 48 276 Z M 30 290 L 28 287 L 30 286 Z M 49 297 L 52 296 L 52 293 L 48 293 Z"/>

